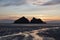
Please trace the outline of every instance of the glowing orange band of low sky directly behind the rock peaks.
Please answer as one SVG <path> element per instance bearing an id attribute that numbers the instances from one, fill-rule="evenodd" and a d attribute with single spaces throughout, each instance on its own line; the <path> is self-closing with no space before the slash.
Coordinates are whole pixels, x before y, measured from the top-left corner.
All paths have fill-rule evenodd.
<path id="1" fill-rule="evenodd" d="M 21 15 L 10 15 L 10 16 L 0 16 L 0 20 L 8 19 L 8 20 L 16 20 L 18 18 L 22 17 Z M 44 16 L 44 15 L 25 15 L 26 18 L 29 20 L 32 19 L 32 17 L 40 18 L 43 21 L 52 21 L 52 20 L 60 20 L 58 16 Z"/>

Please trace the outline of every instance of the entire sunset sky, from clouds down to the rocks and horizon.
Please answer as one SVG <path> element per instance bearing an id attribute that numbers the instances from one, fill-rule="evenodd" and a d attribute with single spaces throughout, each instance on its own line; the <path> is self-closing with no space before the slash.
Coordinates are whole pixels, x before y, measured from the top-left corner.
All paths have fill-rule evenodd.
<path id="1" fill-rule="evenodd" d="M 60 0 L 0 0 L 0 23 L 22 16 L 60 21 Z"/>

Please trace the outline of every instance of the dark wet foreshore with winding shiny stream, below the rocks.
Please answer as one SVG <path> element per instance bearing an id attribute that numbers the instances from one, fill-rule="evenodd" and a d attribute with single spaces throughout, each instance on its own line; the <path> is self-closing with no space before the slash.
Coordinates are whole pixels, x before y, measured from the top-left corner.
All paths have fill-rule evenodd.
<path id="1" fill-rule="evenodd" d="M 60 23 L 0 23 L 0 40 L 60 40 Z"/>

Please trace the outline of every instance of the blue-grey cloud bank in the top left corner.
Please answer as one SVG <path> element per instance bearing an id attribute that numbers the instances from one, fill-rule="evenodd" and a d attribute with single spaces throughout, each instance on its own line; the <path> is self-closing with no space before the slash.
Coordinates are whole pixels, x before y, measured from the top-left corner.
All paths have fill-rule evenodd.
<path id="1" fill-rule="evenodd" d="M 22 4 L 25 4 L 25 0 L 0 0 L 0 6 L 17 6 Z"/>

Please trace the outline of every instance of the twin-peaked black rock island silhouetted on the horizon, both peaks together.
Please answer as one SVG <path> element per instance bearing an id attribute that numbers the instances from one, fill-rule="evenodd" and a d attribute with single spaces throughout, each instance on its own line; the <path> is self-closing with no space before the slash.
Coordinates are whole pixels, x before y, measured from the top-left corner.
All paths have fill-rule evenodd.
<path id="1" fill-rule="evenodd" d="M 43 22 L 41 19 L 36 19 L 35 17 L 33 17 L 31 21 L 29 21 L 23 16 L 15 20 L 14 24 L 46 24 L 46 22 Z"/>

